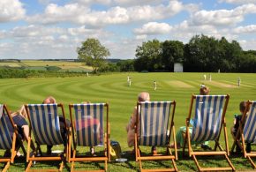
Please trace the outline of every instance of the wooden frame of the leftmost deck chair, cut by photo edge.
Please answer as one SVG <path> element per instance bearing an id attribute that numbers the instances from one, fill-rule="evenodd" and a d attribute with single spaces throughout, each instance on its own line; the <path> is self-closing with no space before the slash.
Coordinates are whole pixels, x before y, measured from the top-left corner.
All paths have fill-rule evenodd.
<path id="1" fill-rule="evenodd" d="M 14 162 L 14 158 L 16 156 L 16 153 L 18 152 L 18 148 L 15 148 L 16 141 L 19 141 L 19 144 L 22 147 L 24 153 L 26 153 L 26 150 L 22 144 L 21 138 L 18 137 L 17 125 L 13 123 L 7 106 L 5 104 L 3 104 L 2 106 L 3 106 L 3 111 L 1 112 L 2 116 L 1 116 L 0 128 L 1 128 L 1 140 L 4 142 L 1 141 L 0 145 L 1 145 L 1 147 L 3 145 L 3 148 L 5 147 L 5 149 L 11 149 L 11 157 L 3 157 L 0 159 L 0 162 L 6 162 L 2 171 L 7 171 L 8 168 L 10 167 L 10 163 Z M 8 119 L 11 122 L 11 126 L 13 127 L 14 132 L 13 132 L 12 139 L 11 139 L 11 135 L 10 135 L 7 123 L 5 121 L 6 120 L 5 116 L 8 116 Z M 2 119 L 2 117 L 3 117 L 3 119 Z M 2 122 L 2 120 L 4 120 L 4 122 Z M 2 132 L 2 130 L 4 130 L 4 131 Z M 8 136 L 5 135 L 5 137 L 4 137 L 4 134 L 7 134 Z M 4 137 L 4 138 L 2 138 L 2 137 Z M 9 142 L 9 144 L 8 144 L 8 142 Z"/>

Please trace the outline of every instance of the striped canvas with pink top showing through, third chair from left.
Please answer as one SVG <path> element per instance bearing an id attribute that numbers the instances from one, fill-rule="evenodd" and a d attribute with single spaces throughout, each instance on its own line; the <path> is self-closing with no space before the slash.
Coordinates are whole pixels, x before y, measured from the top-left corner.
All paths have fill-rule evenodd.
<path id="1" fill-rule="evenodd" d="M 105 103 L 74 104 L 78 146 L 103 145 Z"/>

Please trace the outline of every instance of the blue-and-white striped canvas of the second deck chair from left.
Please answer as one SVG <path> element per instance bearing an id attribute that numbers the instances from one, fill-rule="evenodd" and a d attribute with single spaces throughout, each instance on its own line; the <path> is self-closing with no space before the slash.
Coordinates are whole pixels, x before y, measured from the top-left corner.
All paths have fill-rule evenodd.
<path id="1" fill-rule="evenodd" d="M 59 145 L 61 136 L 57 104 L 28 104 L 34 138 L 39 145 Z"/>

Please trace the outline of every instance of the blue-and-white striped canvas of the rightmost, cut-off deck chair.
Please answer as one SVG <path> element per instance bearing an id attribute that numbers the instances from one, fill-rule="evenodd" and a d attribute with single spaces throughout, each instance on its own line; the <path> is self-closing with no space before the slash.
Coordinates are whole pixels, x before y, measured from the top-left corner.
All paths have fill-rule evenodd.
<path id="1" fill-rule="evenodd" d="M 256 101 L 252 101 L 251 108 L 245 121 L 244 137 L 246 143 L 256 142 Z"/>

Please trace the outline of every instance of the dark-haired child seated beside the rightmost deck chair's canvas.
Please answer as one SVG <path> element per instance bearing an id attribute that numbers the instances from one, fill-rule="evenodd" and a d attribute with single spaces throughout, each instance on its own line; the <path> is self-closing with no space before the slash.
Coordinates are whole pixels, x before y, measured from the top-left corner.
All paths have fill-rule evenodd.
<path id="1" fill-rule="evenodd" d="M 237 136 L 237 131 L 238 131 L 238 128 L 239 128 L 239 123 L 242 119 L 242 116 L 243 116 L 243 113 L 245 111 L 245 108 L 246 108 L 246 101 L 241 101 L 240 104 L 239 104 L 239 110 L 241 112 L 241 115 L 235 115 L 235 119 L 234 119 L 234 126 L 231 128 L 231 134 L 232 134 L 232 137 L 235 139 L 236 136 Z M 245 148 L 246 152 L 247 153 L 250 153 L 251 152 L 251 144 L 250 143 L 247 143 L 246 144 L 246 148 Z M 236 146 L 236 153 L 240 153 L 241 152 L 241 148 L 240 146 Z"/>

